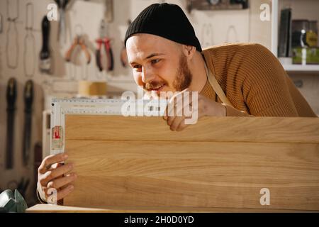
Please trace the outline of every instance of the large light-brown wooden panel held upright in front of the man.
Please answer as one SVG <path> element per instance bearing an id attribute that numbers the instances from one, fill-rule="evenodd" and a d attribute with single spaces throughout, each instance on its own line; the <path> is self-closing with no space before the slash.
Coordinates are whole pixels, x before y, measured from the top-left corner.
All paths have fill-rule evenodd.
<path id="1" fill-rule="evenodd" d="M 203 118 L 172 132 L 157 117 L 67 116 L 65 133 L 79 176 L 67 206 L 319 210 L 318 118 Z"/>

